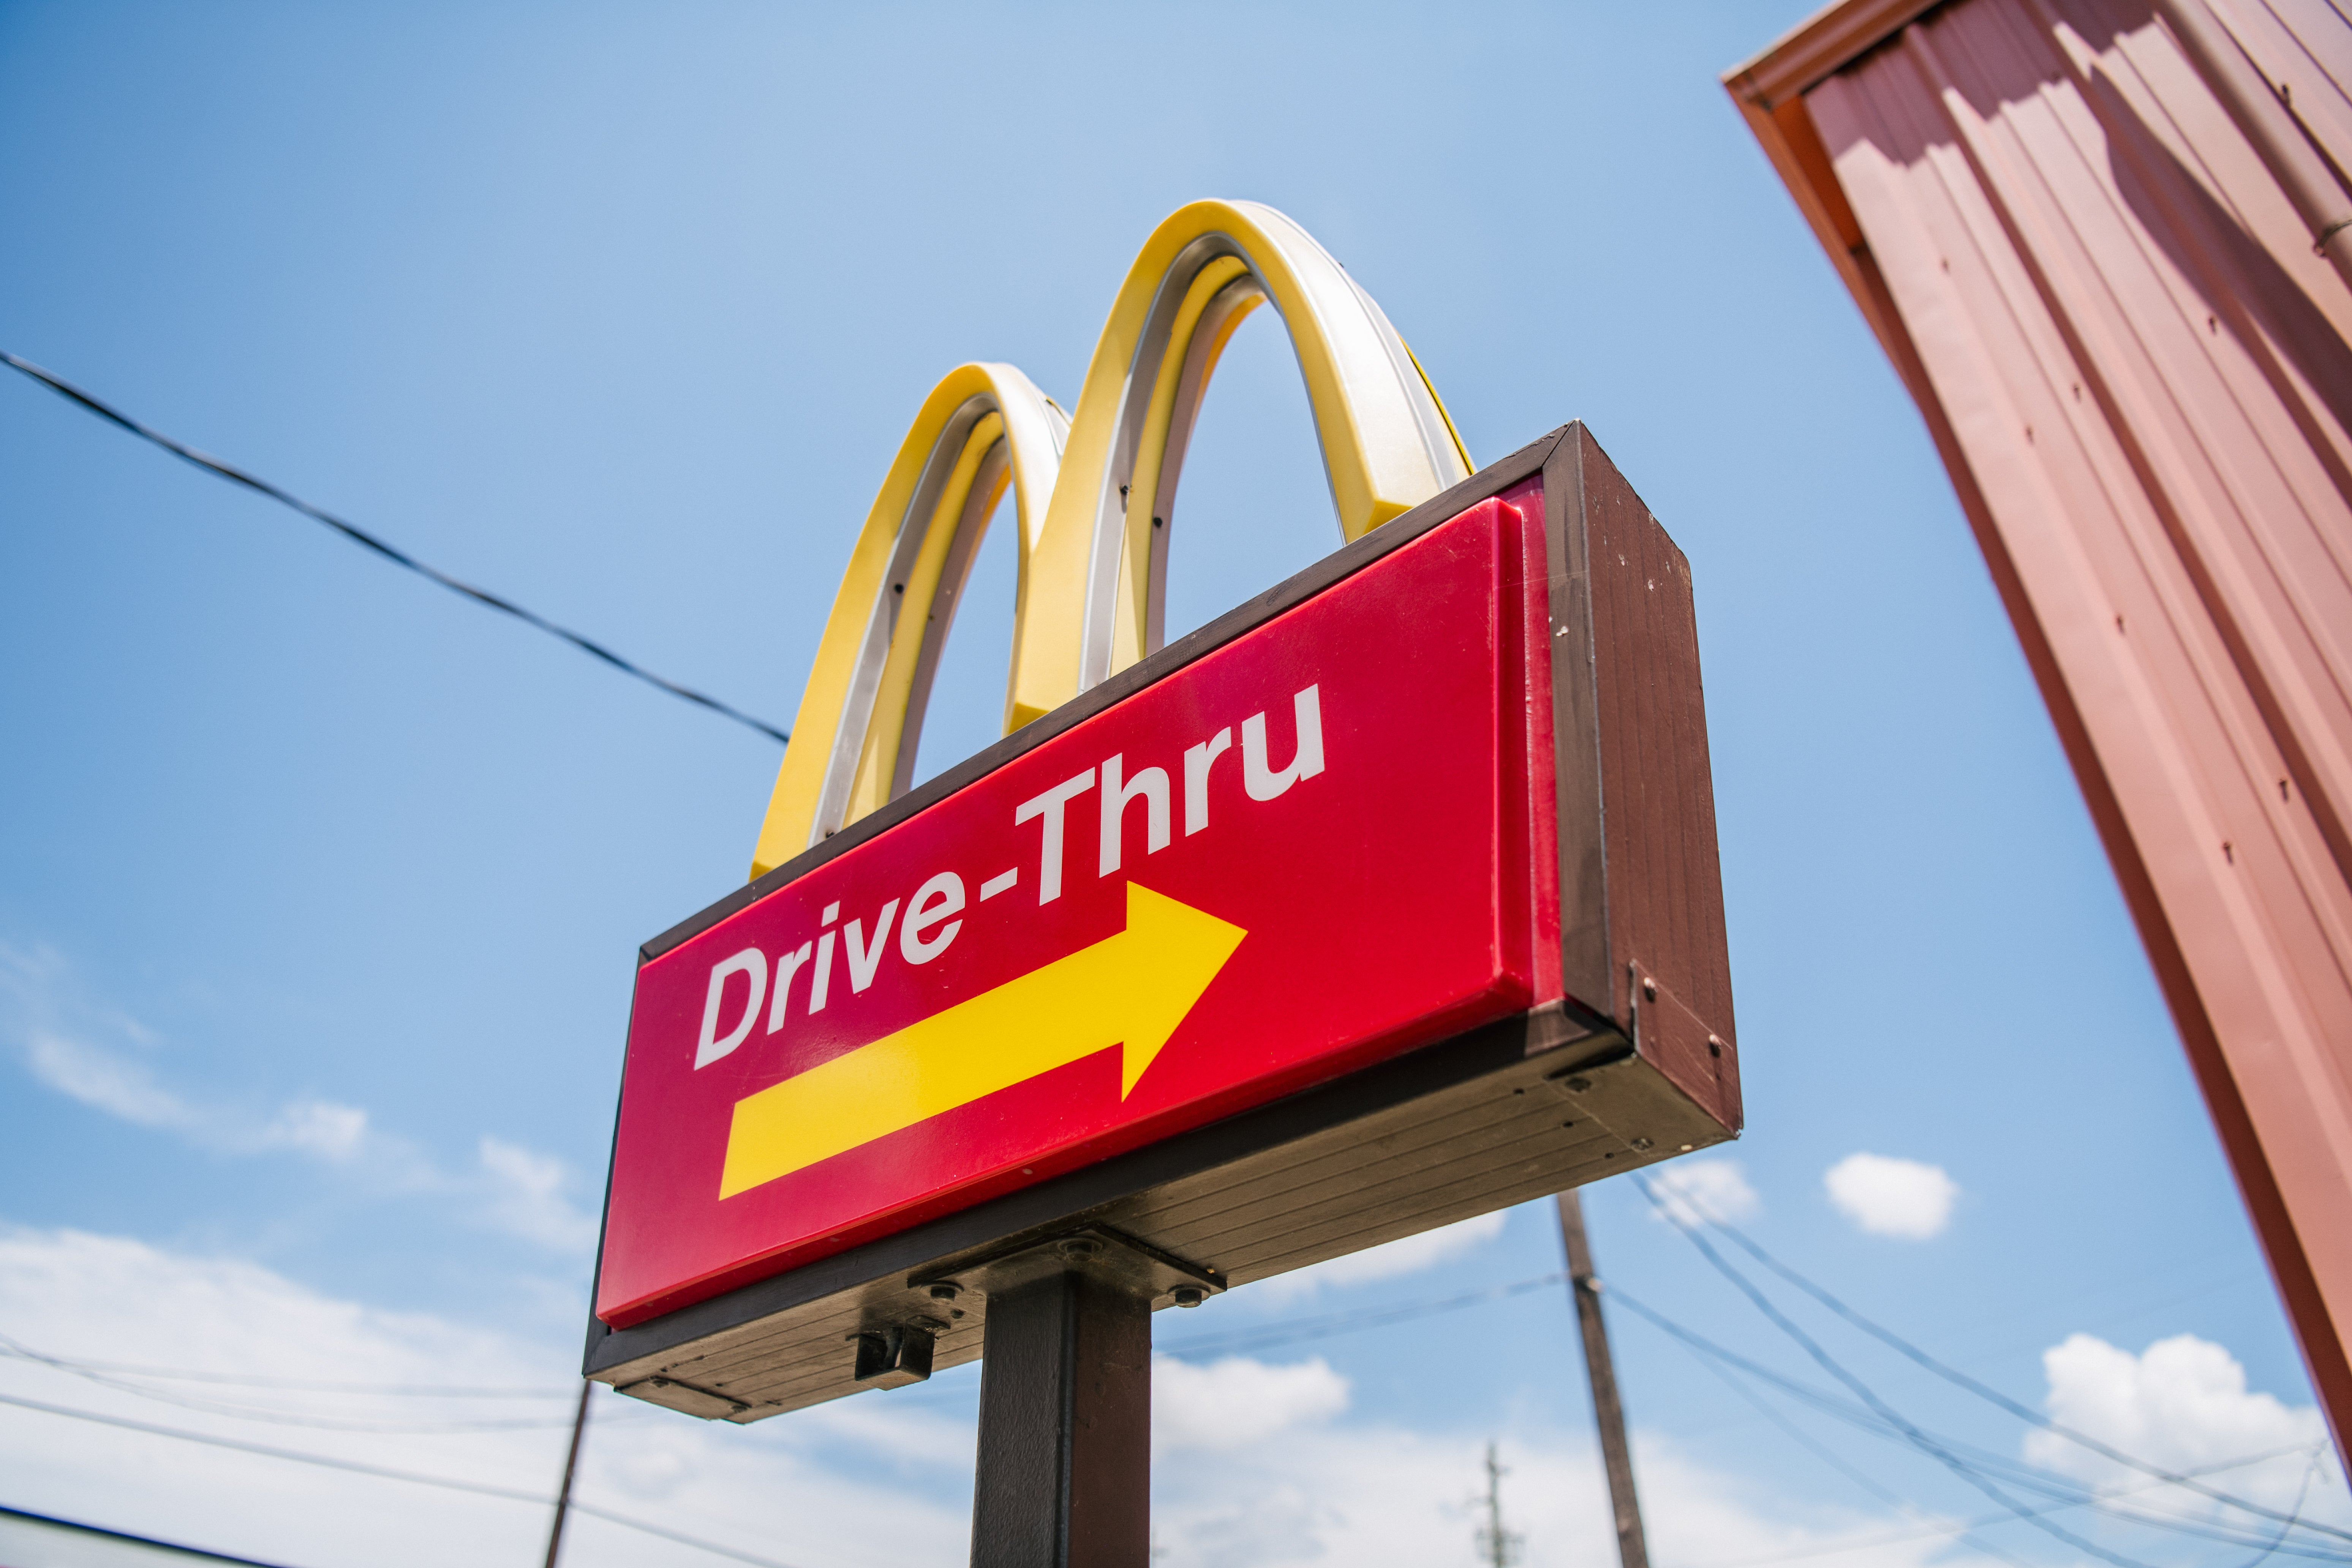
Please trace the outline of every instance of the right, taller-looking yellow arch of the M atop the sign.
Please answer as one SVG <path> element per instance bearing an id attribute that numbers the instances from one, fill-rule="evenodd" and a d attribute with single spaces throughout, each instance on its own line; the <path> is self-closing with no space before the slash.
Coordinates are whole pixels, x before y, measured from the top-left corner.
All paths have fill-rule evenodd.
<path id="1" fill-rule="evenodd" d="M 1265 301 L 1298 353 L 1343 538 L 1470 477 L 1404 339 L 1308 230 L 1261 202 L 1178 209 L 1127 268 L 1077 395 L 1065 480 L 1030 559 L 1016 726 L 1160 646 L 1164 524 L 1200 395 Z"/>

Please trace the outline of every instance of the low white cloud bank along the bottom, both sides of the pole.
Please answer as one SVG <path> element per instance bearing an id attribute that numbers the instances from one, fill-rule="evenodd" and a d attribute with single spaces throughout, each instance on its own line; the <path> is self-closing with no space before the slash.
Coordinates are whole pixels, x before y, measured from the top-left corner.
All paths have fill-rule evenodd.
<path id="1" fill-rule="evenodd" d="M 136 1380 L 209 1403 L 339 1422 L 527 1420 L 506 1432 L 336 1432 L 158 1406 L 0 1359 L 0 1394 L 235 1441 L 325 1453 L 548 1495 L 562 1467 L 572 1342 L 534 1345 L 416 1312 L 383 1312 L 242 1260 L 122 1237 L 0 1225 L 0 1331 L 45 1352 L 280 1380 L 543 1389 L 541 1399 L 395 1399 Z M 957 1561 L 969 1544 L 978 1368 L 797 1410 L 755 1427 L 696 1422 L 600 1394 L 579 1495 L 649 1523 L 800 1568 Z M 1162 1359 L 1155 1533 L 1164 1568 L 1425 1568 L 1470 1561 L 1477 1432 L 1362 1422 L 1317 1361 Z M 1661 1561 L 1820 1554 L 1837 1568 L 1990 1568 L 1915 1512 L 1811 1507 L 1635 1434 Z M 1581 1429 L 1510 1436 L 1510 1526 L 1526 1568 L 1613 1568 L 1602 1472 Z M 266 1561 L 492 1568 L 536 1561 L 546 1507 L 355 1476 L 0 1406 L 9 1502 Z M 125 1476 L 139 1476 L 125 1486 Z M 1910 1540 L 1884 1540 L 1905 1535 Z M 1828 1556 L 1835 1549 L 1837 1556 Z M 576 1516 L 567 1568 L 703 1561 Z"/>

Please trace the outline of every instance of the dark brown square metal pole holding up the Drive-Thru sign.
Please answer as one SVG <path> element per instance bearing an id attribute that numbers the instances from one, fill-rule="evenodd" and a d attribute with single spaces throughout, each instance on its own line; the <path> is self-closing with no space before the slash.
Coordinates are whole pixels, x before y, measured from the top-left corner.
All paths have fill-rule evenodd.
<path id="1" fill-rule="evenodd" d="M 988 1293 L 971 1568 L 1148 1568 L 1152 1286 L 1073 1237 Z"/>

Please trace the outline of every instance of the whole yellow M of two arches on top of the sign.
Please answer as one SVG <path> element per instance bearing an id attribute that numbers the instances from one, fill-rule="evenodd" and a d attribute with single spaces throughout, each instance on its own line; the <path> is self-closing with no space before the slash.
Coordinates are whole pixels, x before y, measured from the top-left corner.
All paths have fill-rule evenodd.
<path id="1" fill-rule="evenodd" d="M 1343 538 L 1470 477 L 1437 388 L 1308 230 L 1258 202 L 1183 207 L 1127 268 L 1075 416 L 1011 364 L 960 364 L 931 388 L 826 618 L 753 877 L 913 783 L 931 675 L 1007 489 L 1021 550 L 1004 731 L 1160 649 L 1185 444 L 1225 341 L 1263 303 L 1298 355 Z"/>

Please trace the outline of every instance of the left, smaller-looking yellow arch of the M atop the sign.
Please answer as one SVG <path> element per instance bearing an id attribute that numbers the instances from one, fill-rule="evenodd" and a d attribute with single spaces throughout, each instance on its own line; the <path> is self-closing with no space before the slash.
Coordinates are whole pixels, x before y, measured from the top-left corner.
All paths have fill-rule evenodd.
<path id="1" fill-rule="evenodd" d="M 924 397 L 833 595 L 753 877 L 906 792 L 931 675 L 1007 484 L 1021 517 L 1018 663 L 1028 559 L 1068 428 L 1054 400 L 1011 364 L 960 364 Z"/>

